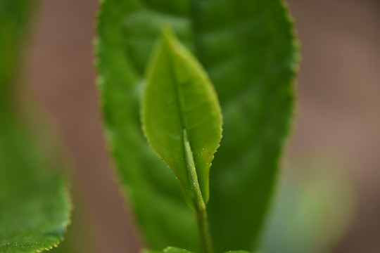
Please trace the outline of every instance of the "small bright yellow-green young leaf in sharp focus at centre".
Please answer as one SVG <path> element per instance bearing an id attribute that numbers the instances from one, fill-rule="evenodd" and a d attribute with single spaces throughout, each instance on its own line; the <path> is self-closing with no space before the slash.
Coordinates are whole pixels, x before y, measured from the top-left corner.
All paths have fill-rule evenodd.
<path id="1" fill-rule="evenodd" d="M 211 161 L 222 138 L 213 84 L 169 30 L 153 53 L 146 79 L 141 110 L 146 138 L 175 172 L 188 205 L 194 207 L 199 198 L 207 202 Z"/>

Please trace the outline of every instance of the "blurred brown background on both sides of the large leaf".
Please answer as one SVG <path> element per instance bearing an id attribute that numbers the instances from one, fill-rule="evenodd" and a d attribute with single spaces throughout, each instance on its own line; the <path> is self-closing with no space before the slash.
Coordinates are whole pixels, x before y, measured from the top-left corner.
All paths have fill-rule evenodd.
<path id="1" fill-rule="evenodd" d="M 27 80 L 74 165 L 80 201 L 93 224 L 93 252 L 138 252 L 133 219 L 125 212 L 101 133 L 92 47 L 98 1 L 41 2 Z M 353 183 L 357 209 L 334 252 L 379 253 L 380 1 L 288 3 L 303 60 L 284 160 L 317 154 L 336 161 Z M 341 208 L 336 212 L 343 215 Z"/>

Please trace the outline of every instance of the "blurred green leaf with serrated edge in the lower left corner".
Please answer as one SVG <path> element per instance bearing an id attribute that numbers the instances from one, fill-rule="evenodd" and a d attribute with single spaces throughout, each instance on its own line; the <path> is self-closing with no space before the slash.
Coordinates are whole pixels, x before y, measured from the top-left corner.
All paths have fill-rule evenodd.
<path id="1" fill-rule="evenodd" d="M 62 164 L 10 113 L 0 111 L 0 252 L 50 249 L 70 221 L 65 180 L 54 171 Z"/>

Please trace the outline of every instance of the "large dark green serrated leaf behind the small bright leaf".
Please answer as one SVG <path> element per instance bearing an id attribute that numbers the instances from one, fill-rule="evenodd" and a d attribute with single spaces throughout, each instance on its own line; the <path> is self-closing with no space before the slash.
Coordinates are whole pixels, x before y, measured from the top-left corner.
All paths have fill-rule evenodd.
<path id="1" fill-rule="evenodd" d="M 194 252 L 201 252 L 196 220 L 140 130 L 144 71 L 162 24 L 198 57 L 222 105 L 224 139 L 210 171 L 208 203 L 215 249 L 252 250 L 293 114 L 293 24 L 281 0 L 103 1 L 99 90 L 122 185 L 151 247 Z"/>

